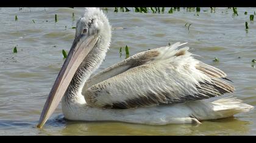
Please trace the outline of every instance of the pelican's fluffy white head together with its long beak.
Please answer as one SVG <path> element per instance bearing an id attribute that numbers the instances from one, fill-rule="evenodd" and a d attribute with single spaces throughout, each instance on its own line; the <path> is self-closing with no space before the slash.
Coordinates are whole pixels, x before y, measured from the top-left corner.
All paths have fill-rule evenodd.
<path id="1" fill-rule="evenodd" d="M 108 48 L 111 26 L 99 8 L 85 8 L 85 14 L 77 21 L 76 36 L 68 57 L 44 104 L 37 127 L 43 127 L 59 104 L 79 65 L 95 47 Z"/>

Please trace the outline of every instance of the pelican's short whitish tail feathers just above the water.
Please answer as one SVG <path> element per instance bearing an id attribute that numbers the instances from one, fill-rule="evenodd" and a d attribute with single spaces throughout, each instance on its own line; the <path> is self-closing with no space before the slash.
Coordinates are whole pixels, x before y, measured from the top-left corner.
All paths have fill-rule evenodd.
<path id="1" fill-rule="evenodd" d="M 238 113 L 247 112 L 254 108 L 233 96 L 210 98 L 201 101 L 201 105 L 194 106 L 195 102 L 188 103 L 193 110 L 193 118 L 202 120 L 229 118 Z"/>

